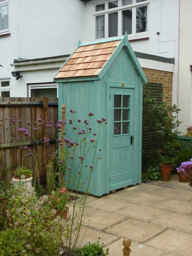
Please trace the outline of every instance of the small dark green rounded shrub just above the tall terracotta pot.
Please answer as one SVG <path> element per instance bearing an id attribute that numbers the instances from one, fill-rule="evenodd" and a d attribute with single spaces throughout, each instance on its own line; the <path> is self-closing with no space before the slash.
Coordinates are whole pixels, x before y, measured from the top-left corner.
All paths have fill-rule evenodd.
<path id="1" fill-rule="evenodd" d="M 170 140 L 166 143 L 166 145 L 163 148 L 164 155 L 169 157 L 175 157 L 180 150 L 182 150 L 182 146 L 184 143 L 182 140 L 174 139 Z"/>

